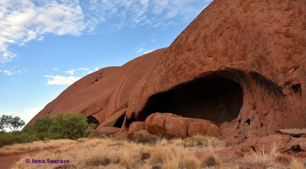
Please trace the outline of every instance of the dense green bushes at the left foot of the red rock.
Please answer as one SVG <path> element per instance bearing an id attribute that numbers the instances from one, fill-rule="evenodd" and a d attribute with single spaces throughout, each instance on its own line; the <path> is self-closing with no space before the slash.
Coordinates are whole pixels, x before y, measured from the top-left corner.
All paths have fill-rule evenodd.
<path id="1" fill-rule="evenodd" d="M 14 143 L 33 142 L 50 139 L 72 139 L 88 137 L 95 128 L 87 123 L 87 118 L 82 114 L 60 112 L 53 118 L 49 115 L 28 124 L 20 131 L 0 131 L 0 147 Z M 88 130 L 87 130 L 88 129 Z"/>

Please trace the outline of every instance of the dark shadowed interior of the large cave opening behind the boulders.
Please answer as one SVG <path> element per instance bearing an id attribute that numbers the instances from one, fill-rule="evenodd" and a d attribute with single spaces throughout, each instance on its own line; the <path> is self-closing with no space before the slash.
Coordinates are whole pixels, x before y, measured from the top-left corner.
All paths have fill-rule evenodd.
<path id="1" fill-rule="evenodd" d="M 236 119 L 242 104 L 239 83 L 223 77 L 198 78 L 149 97 L 137 119 L 144 121 L 152 113 L 168 112 L 221 124 Z"/>

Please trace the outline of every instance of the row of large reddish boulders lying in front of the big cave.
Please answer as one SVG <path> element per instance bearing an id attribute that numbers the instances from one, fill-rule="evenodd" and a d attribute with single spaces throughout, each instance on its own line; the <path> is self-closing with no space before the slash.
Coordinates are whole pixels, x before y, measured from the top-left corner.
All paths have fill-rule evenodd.
<path id="1" fill-rule="evenodd" d="M 153 113 L 146 118 L 144 125 L 149 133 L 159 137 L 186 138 L 195 134 L 213 136 L 220 134 L 216 123 L 209 120 L 181 117 L 172 113 Z M 132 127 L 134 128 L 134 126 Z"/>

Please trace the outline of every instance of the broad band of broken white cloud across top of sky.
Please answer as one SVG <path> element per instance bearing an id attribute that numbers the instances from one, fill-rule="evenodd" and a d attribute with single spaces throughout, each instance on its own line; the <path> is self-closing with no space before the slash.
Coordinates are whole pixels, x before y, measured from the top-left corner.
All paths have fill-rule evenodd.
<path id="1" fill-rule="evenodd" d="M 124 27 L 167 29 L 177 20 L 187 20 L 212 0 L 1 0 L 0 64 L 12 61 L 17 53 L 11 46 L 31 40 L 42 41 L 48 34 L 78 36 Z M 195 5 L 196 4 L 196 5 Z M 102 27 L 99 25 L 103 24 Z M 99 28 L 99 29 L 98 29 Z M 152 37 L 152 42 L 156 37 Z M 147 49 L 139 48 L 137 52 Z"/>

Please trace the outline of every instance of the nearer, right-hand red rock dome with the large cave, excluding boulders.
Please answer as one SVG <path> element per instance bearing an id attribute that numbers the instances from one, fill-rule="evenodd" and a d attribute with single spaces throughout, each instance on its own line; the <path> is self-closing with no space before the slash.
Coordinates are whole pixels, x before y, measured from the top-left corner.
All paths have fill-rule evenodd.
<path id="1" fill-rule="evenodd" d="M 219 123 L 233 143 L 306 127 L 305 48 L 304 1 L 215 0 L 136 84 L 123 128 L 155 112 Z"/>

